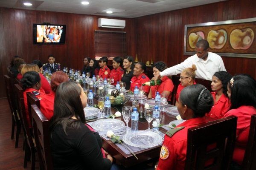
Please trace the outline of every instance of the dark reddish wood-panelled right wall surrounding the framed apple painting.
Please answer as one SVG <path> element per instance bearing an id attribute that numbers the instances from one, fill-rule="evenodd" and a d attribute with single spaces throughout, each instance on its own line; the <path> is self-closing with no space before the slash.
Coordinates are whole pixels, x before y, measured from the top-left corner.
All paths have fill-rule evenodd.
<path id="1" fill-rule="evenodd" d="M 179 64 L 189 57 L 183 55 L 185 24 L 256 17 L 255 6 L 255 0 L 227 0 L 135 18 L 134 24 L 137 28 L 137 42 L 135 45 L 139 60 L 142 58 L 143 61 L 151 61 L 152 57 L 154 62 L 162 60 L 169 67 Z M 163 20 L 168 22 L 163 22 Z M 156 37 L 154 37 L 154 30 L 151 29 L 152 24 L 157 26 Z M 150 42 L 148 42 L 145 34 L 152 37 Z M 156 53 L 151 53 L 153 56 L 149 57 L 148 50 L 156 51 Z M 238 57 L 222 57 L 222 59 L 230 74 L 246 73 L 256 79 L 256 59 Z"/>

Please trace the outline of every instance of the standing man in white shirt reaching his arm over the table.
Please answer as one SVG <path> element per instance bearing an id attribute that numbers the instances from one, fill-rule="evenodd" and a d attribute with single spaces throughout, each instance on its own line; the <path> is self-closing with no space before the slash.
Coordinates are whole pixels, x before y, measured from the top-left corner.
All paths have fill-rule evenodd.
<path id="1" fill-rule="evenodd" d="M 195 46 L 195 55 L 187 58 L 178 65 L 167 68 L 166 70 L 155 75 L 152 80 L 160 79 L 162 76 L 172 76 L 180 74 L 183 69 L 195 64 L 197 67 L 196 78 L 212 80 L 212 75 L 218 71 L 226 71 L 221 57 L 215 53 L 209 52 L 209 42 L 199 40 Z"/>

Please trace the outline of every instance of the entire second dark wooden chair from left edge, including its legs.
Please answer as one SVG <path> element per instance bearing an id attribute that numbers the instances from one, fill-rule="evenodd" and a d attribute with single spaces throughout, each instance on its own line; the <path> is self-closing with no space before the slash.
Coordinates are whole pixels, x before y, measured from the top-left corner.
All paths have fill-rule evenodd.
<path id="1" fill-rule="evenodd" d="M 16 94 L 16 102 L 19 106 L 19 113 L 21 117 L 23 133 L 25 138 L 25 156 L 23 167 L 27 167 L 27 161 L 31 159 L 31 170 L 35 170 L 35 142 L 34 137 L 32 136 L 32 128 L 29 127 L 29 122 L 26 116 L 23 89 L 15 84 L 15 94 Z"/>

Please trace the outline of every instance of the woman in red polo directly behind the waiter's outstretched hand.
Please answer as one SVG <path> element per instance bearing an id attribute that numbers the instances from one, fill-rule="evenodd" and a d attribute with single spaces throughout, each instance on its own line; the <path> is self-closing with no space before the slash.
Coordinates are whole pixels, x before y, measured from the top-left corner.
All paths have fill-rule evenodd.
<path id="1" fill-rule="evenodd" d="M 152 65 L 152 68 L 153 68 L 153 75 L 155 76 L 156 74 L 164 71 L 168 67 L 164 62 L 159 61 L 159 62 L 154 63 Z M 167 101 L 171 102 L 172 91 L 174 88 L 173 82 L 167 76 L 160 77 L 160 79 L 162 80 L 162 84 L 151 86 L 149 94 L 148 94 L 148 98 L 151 98 L 151 97 L 155 98 L 157 91 L 159 92 L 159 94 L 161 94 L 162 92 L 166 92 L 167 93 Z"/>

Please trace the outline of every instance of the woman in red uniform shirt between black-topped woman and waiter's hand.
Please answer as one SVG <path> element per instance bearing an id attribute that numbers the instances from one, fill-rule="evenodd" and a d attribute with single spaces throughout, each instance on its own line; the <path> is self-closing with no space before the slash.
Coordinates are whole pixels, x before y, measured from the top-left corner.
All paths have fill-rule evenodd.
<path id="1" fill-rule="evenodd" d="M 147 66 L 143 62 L 137 62 L 134 66 L 134 77 L 131 78 L 131 87 L 129 91 L 134 91 L 135 86 L 138 88 L 143 83 L 149 82 L 150 79 L 144 74 L 147 71 Z M 144 95 L 148 96 L 150 86 L 144 86 Z"/>

